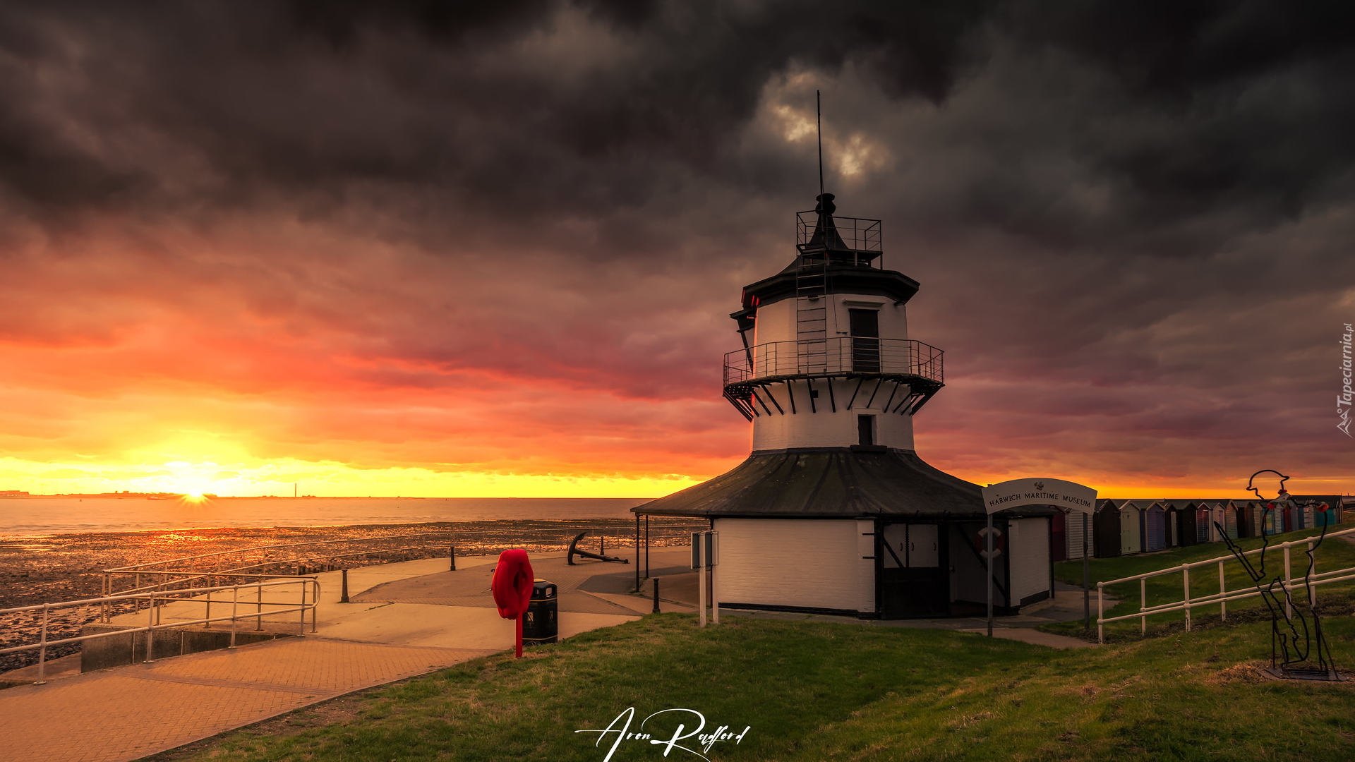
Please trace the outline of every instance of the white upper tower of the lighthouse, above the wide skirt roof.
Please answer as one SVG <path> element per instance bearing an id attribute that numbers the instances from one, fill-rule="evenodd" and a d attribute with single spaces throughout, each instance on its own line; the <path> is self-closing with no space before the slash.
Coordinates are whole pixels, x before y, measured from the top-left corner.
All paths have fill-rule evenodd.
<path id="1" fill-rule="evenodd" d="M 882 268 L 879 220 L 835 217 L 832 194 L 797 214 L 794 262 L 744 289 L 744 348 L 725 397 L 753 423 L 753 453 L 913 450 L 912 416 L 942 386 L 942 353 L 908 338 L 917 281 Z"/>

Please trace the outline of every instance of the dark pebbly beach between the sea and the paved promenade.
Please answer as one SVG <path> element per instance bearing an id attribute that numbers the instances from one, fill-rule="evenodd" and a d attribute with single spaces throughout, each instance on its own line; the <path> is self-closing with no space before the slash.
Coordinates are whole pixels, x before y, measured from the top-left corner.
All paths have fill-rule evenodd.
<path id="1" fill-rule="evenodd" d="M 102 532 L 49 534 L 42 537 L 7 537 L 0 534 L 0 609 L 33 606 L 58 601 L 95 598 L 103 593 L 103 569 L 142 564 L 157 560 L 198 556 L 218 550 L 314 542 L 327 540 L 355 540 L 362 549 L 364 540 L 436 532 L 427 538 L 427 556 L 446 555 L 455 545 L 458 556 L 497 553 L 505 548 L 526 548 L 533 552 L 560 552 L 579 532 L 589 532 L 587 549 L 596 552 L 598 534 L 607 536 L 608 553 L 634 555 L 634 525 L 615 519 L 576 521 L 478 521 L 405 525 L 309 526 L 309 527 L 214 527 L 154 532 Z M 652 527 L 653 545 L 688 542 L 682 532 Z M 453 542 L 444 542 L 451 540 Z M 351 550 L 346 549 L 346 550 Z M 279 557 L 302 557 L 317 550 L 287 549 Z M 337 559 L 332 568 L 371 564 L 370 557 Z M 377 561 L 379 563 L 379 561 Z M 80 626 L 93 620 L 91 609 L 72 609 L 54 614 L 49 637 L 79 635 Z M 38 613 L 0 616 L 0 648 L 35 643 L 41 626 Z M 49 659 L 75 654 L 77 644 L 53 647 Z M 37 652 L 0 655 L 0 673 L 35 663 Z"/>

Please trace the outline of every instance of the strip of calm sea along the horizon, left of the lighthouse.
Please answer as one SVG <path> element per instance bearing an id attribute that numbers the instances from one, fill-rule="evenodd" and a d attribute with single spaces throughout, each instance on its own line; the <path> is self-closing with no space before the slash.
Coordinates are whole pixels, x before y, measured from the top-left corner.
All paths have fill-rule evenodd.
<path id="1" fill-rule="evenodd" d="M 214 526 L 631 518 L 649 498 L 0 498 L 0 536 Z"/>

